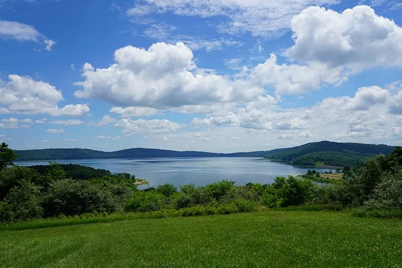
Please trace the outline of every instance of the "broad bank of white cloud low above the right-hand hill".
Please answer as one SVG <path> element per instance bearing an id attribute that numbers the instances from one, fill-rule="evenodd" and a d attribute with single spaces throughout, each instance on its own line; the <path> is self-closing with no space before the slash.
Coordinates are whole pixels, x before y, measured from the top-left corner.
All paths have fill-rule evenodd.
<path id="1" fill-rule="evenodd" d="M 378 86 L 361 87 L 353 97 L 330 97 L 311 107 L 280 108 L 272 101 L 266 106 L 246 105 L 235 112 L 221 111 L 205 118 L 197 117 L 191 125 L 220 129 L 220 135 L 229 131 L 225 130 L 228 128 L 246 128 L 247 133 L 286 140 L 289 145 L 300 138 L 310 141 L 359 138 L 360 142 L 383 143 L 384 138 L 391 135 L 390 126 L 402 123 L 402 118 L 389 113 L 398 94 Z M 397 129 L 392 130 L 393 136 L 395 133 Z M 196 137 L 202 134 L 198 132 Z"/>

